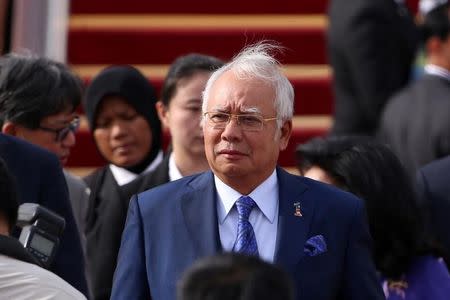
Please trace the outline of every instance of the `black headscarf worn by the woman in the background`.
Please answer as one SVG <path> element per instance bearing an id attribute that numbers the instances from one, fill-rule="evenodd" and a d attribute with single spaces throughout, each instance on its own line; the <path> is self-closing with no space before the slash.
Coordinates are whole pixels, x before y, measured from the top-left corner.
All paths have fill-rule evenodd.
<path id="1" fill-rule="evenodd" d="M 111 66 L 101 71 L 89 85 L 84 99 L 84 110 L 93 133 L 95 118 L 101 101 L 106 96 L 119 96 L 133 106 L 150 125 L 153 139 L 150 152 L 135 166 L 126 169 L 139 174 L 155 159 L 161 150 L 161 122 L 156 112 L 155 88 L 136 68 L 132 66 Z"/>

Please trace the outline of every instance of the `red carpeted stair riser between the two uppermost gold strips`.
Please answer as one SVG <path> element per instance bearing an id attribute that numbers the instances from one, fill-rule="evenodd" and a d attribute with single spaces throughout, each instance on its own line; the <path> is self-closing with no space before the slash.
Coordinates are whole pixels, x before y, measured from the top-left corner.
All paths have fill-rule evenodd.
<path id="1" fill-rule="evenodd" d="M 325 31 L 306 29 L 71 29 L 70 64 L 170 64 L 197 52 L 231 59 L 245 45 L 274 40 L 286 48 L 283 64 L 327 64 Z"/>

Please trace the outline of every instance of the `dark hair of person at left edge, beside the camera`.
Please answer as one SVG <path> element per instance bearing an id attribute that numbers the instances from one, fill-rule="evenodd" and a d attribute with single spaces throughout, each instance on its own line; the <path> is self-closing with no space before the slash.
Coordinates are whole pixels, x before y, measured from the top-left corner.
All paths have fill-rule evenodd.
<path id="1" fill-rule="evenodd" d="M 2 217 L 11 231 L 17 222 L 19 200 L 16 193 L 16 182 L 8 170 L 6 163 L 0 158 L 0 217 Z"/>

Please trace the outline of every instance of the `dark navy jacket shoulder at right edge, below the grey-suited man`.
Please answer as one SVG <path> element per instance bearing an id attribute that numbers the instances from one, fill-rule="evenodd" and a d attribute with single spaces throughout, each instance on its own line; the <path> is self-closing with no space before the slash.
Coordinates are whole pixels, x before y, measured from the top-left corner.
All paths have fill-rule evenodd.
<path id="1" fill-rule="evenodd" d="M 450 156 L 434 161 L 417 172 L 417 187 L 422 207 L 428 212 L 432 233 L 444 246 L 450 260 Z"/>

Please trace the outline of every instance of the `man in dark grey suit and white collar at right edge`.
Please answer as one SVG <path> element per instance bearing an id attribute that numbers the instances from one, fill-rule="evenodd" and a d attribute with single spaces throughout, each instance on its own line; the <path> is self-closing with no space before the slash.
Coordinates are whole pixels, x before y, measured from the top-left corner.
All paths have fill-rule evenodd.
<path id="1" fill-rule="evenodd" d="M 387 103 L 378 137 L 392 147 L 411 177 L 425 164 L 450 155 L 450 6 L 424 16 L 425 75 Z"/>

